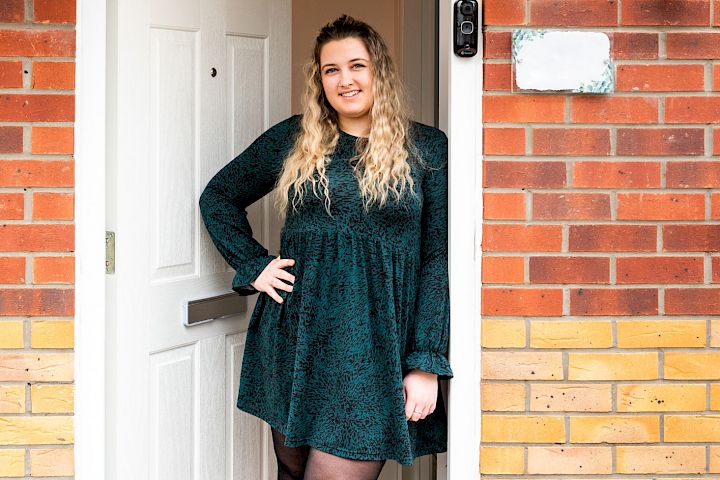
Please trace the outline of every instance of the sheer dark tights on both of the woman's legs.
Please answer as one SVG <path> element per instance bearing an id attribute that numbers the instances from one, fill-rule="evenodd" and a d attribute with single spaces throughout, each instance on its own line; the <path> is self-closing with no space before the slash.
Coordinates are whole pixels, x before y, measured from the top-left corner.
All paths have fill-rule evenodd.
<path id="1" fill-rule="evenodd" d="M 272 428 L 278 480 L 377 480 L 385 460 L 353 460 L 307 445 L 286 447 L 285 436 Z"/>

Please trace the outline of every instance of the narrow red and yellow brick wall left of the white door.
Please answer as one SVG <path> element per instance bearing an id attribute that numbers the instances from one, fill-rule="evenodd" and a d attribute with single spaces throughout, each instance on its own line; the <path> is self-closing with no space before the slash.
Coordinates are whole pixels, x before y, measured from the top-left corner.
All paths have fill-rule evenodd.
<path id="1" fill-rule="evenodd" d="M 0 477 L 73 476 L 75 0 L 0 0 Z"/>

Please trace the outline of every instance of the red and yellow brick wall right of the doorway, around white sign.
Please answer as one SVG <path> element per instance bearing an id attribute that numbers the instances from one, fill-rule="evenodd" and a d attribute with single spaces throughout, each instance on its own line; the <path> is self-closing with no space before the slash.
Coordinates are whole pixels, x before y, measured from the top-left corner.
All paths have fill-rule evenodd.
<path id="1" fill-rule="evenodd" d="M 720 0 L 483 3 L 484 477 L 720 473 Z M 512 93 L 517 25 L 617 92 Z"/>

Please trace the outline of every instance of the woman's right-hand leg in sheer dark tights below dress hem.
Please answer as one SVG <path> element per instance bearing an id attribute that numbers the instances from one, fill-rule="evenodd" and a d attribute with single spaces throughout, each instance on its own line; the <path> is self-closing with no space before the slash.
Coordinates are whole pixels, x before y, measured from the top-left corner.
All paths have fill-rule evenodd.
<path id="1" fill-rule="evenodd" d="M 353 460 L 310 449 L 305 480 L 377 480 L 385 460 Z"/>

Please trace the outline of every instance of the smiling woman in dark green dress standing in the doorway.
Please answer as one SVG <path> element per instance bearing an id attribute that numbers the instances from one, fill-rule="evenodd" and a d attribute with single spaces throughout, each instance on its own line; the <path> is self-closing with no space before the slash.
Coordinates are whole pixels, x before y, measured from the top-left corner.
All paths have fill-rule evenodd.
<path id="1" fill-rule="evenodd" d="M 278 257 L 245 211 L 273 188 Z M 378 33 L 348 16 L 323 27 L 303 115 L 226 165 L 200 205 L 233 289 L 264 293 L 237 406 L 272 427 L 278 478 L 375 479 L 388 458 L 445 451 L 447 138 L 409 121 Z"/>

